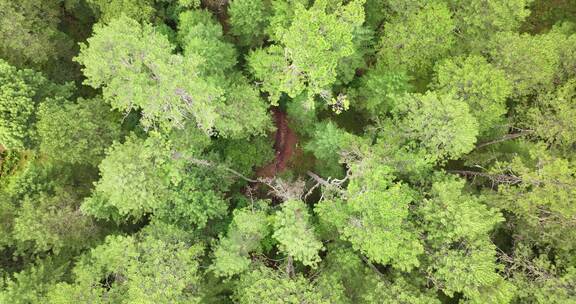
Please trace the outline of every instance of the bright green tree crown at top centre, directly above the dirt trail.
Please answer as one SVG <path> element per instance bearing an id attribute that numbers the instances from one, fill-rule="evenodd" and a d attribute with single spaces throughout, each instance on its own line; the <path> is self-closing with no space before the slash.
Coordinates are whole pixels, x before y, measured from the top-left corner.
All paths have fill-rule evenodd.
<path id="1" fill-rule="evenodd" d="M 290 25 L 275 27 L 279 44 L 250 54 L 252 73 L 263 82 L 262 90 L 273 104 L 282 93 L 331 100 L 338 64 L 355 52 L 355 29 L 364 21 L 362 4 L 357 0 L 337 5 L 330 13 L 327 1 L 316 1 L 310 9 L 297 2 Z"/>

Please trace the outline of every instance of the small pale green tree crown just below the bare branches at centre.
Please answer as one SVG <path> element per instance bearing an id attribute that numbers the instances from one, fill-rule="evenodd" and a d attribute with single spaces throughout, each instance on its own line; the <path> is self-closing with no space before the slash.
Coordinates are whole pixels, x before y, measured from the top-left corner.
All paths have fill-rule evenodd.
<path id="1" fill-rule="evenodd" d="M 280 243 L 282 253 L 306 266 L 315 267 L 320 262 L 322 242 L 318 240 L 310 223 L 308 208 L 302 201 L 289 200 L 274 217 L 273 237 Z"/>

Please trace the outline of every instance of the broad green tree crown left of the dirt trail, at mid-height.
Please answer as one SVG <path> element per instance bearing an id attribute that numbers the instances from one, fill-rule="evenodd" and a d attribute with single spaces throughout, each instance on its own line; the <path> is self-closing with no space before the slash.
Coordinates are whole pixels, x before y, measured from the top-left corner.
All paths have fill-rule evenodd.
<path id="1" fill-rule="evenodd" d="M 130 136 L 123 144 L 114 143 L 82 210 L 115 221 L 154 214 L 184 229 L 203 228 L 208 220 L 224 216 L 228 205 L 222 192 L 229 182 L 212 168 L 194 165 L 201 148 L 194 153 L 178 150 L 190 144 L 177 142 L 178 136 L 191 135 L 182 133 L 168 138 L 153 133 L 146 140 Z"/>

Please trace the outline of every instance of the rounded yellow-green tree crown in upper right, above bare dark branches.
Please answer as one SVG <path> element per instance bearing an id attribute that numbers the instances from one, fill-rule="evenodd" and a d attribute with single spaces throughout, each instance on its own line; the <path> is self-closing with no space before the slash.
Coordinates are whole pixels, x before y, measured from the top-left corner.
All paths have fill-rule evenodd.
<path id="1" fill-rule="evenodd" d="M 467 103 L 478 121 L 481 135 L 502 124 L 507 112 L 506 99 L 512 93 L 512 85 L 504 72 L 480 56 L 441 62 L 436 66 L 433 87 L 441 94 Z"/>

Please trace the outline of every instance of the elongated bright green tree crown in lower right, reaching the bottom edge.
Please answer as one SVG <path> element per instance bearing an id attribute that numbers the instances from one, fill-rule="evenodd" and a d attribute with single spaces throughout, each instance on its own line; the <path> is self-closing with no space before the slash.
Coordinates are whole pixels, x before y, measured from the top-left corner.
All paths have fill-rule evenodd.
<path id="1" fill-rule="evenodd" d="M 464 181 L 447 178 L 432 185 L 420 212 L 432 282 L 447 295 L 461 292 L 472 303 L 508 303 L 514 287 L 496 269 L 490 232 L 504 219 L 478 199 L 463 194 Z"/>

